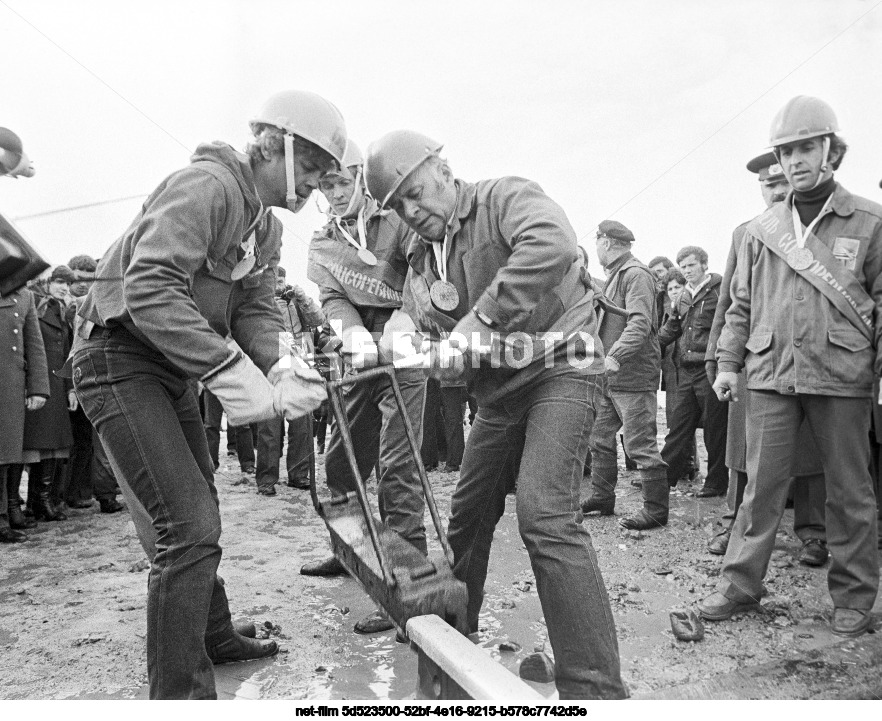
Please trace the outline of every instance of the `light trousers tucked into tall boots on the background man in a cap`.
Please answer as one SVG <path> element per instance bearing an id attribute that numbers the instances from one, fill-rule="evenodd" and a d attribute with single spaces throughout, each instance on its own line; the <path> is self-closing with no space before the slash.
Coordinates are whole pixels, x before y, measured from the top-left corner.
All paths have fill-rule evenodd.
<path id="1" fill-rule="evenodd" d="M 616 435 L 624 430 L 625 452 L 637 464 L 641 481 L 664 480 L 667 464 L 658 451 L 655 391 L 621 391 L 599 379 L 591 431 L 591 484 L 595 498 L 615 498 L 618 481 Z"/>

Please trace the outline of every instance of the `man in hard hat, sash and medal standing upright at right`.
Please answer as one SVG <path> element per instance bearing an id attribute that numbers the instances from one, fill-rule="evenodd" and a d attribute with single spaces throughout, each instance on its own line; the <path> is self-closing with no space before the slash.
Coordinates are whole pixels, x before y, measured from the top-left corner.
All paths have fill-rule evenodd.
<path id="1" fill-rule="evenodd" d="M 747 225 L 738 250 L 714 388 L 738 400 L 745 369 L 748 485 L 717 591 L 699 609 L 716 621 L 757 608 L 806 419 L 827 484 L 831 628 L 855 637 L 873 623 L 879 586 L 869 430 L 882 370 L 882 206 L 836 182 L 847 150 L 838 130 L 832 108 L 808 96 L 772 122 L 793 190 Z"/>

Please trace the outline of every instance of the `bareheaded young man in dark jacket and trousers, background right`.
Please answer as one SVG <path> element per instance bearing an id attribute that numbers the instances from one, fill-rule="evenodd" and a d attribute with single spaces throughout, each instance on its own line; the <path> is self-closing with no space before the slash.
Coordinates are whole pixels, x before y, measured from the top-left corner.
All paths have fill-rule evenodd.
<path id="1" fill-rule="evenodd" d="M 729 485 L 726 470 L 726 406 L 717 400 L 704 369 L 704 356 L 713 324 L 721 278 L 707 272 L 707 252 L 689 245 L 677 253 L 677 265 L 686 287 L 671 315 L 659 331 L 662 346 L 677 342 L 677 392 L 674 417 L 662 458 L 668 464 L 671 486 L 689 474 L 689 458 L 696 429 L 704 423 L 707 475 L 700 498 L 725 495 Z"/>

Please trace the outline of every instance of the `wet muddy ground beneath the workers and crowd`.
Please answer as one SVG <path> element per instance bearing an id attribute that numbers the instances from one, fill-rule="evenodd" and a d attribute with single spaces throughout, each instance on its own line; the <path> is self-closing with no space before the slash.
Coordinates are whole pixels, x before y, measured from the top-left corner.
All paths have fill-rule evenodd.
<path id="1" fill-rule="evenodd" d="M 318 459 L 321 481 L 323 457 Z M 639 490 L 630 484 L 633 475 L 620 476 L 617 514 L 640 504 Z M 457 477 L 430 474 L 445 519 Z M 393 632 L 372 637 L 351 632 L 372 610 L 357 584 L 298 574 L 301 564 L 328 550 L 309 493 L 281 485 L 275 497 L 258 496 L 253 476 L 243 476 L 236 459 L 227 456 L 217 487 L 224 522 L 220 572 L 233 615 L 268 622 L 273 629 L 267 632 L 283 647 L 275 659 L 218 667 L 221 697 L 413 697 L 414 652 L 396 643 Z M 692 607 L 713 590 L 719 574 L 720 558 L 707 553 L 706 543 L 719 530 L 725 500 L 697 499 L 698 487 L 675 489 L 670 523 L 660 530 L 625 532 L 612 517 L 585 521 L 612 601 L 623 677 L 632 694 L 678 695 L 679 687 L 688 688 L 683 685 L 764 664 L 785 671 L 771 690 L 757 691 L 760 697 L 829 697 L 850 688 L 848 664 L 856 662 L 847 659 L 822 669 L 817 683 L 787 685 L 789 660 L 843 647 L 828 630 L 826 569 L 796 563 L 799 542 L 791 511 L 766 581 L 767 612 L 707 624 L 699 643 L 673 637 L 669 612 Z M 426 522 L 429 528 L 428 517 Z M 144 698 L 147 571 L 127 514 L 102 515 L 96 504 L 72 511 L 66 522 L 41 523 L 30 536 L 27 543 L 0 547 L 0 698 Z M 546 636 L 512 497 L 497 531 L 486 590 L 478 643 L 517 672 Z M 502 642 L 520 650 L 500 650 Z M 844 652 L 854 646 L 845 644 Z M 535 686 L 545 695 L 554 693 L 553 684 Z M 750 689 L 736 694 L 751 695 Z"/>

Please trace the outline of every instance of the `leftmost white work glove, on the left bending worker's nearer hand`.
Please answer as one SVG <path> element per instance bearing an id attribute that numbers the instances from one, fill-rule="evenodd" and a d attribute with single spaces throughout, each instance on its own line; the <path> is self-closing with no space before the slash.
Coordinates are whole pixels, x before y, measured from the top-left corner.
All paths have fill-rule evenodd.
<path id="1" fill-rule="evenodd" d="M 246 426 L 278 417 L 273 406 L 273 387 L 266 376 L 232 338 L 227 339 L 227 348 L 229 357 L 200 378 L 221 402 L 227 422 Z"/>

